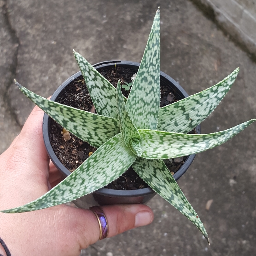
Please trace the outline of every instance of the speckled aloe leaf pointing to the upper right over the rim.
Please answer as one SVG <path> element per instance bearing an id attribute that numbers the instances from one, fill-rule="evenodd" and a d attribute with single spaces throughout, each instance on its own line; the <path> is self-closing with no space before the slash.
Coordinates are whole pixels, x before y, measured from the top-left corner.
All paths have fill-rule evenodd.
<path id="1" fill-rule="evenodd" d="M 235 82 L 238 72 L 239 68 L 218 84 L 160 108 L 156 130 L 178 133 L 191 131 L 219 105 Z"/>

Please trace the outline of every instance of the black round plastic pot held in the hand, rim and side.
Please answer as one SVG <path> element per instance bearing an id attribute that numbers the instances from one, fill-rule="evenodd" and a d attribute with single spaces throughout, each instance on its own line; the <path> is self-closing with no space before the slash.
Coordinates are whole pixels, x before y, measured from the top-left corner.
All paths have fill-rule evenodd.
<path id="1" fill-rule="evenodd" d="M 95 64 L 94 67 L 97 70 L 106 71 L 109 69 L 113 69 L 115 64 L 117 66 L 122 66 L 123 68 L 129 68 L 132 71 L 134 71 L 134 73 L 137 72 L 139 68 L 138 62 L 131 62 L 131 61 L 105 61 L 105 62 L 100 62 Z M 51 97 L 51 100 L 56 101 L 56 99 L 58 99 L 58 97 L 60 97 L 63 94 L 65 87 L 68 86 L 75 78 L 81 75 L 82 75 L 81 72 L 77 72 L 76 74 L 71 76 L 68 80 L 66 80 L 61 86 L 59 86 L 56 92 L 54 92 L 54 94 Z M 175 89 L 175 93 L 179 96 L 180 99 L 183 99 L 188 96 L 185 90 L 176 81 L 174 81 L 170 76 L 168 76 L 163 72 L 160 72 L 160 84 L 167 85 L 172 90 Z M 50 144 L 49 131 L 50 131 L 51 122 L 52 122 L 52 119 L 50 119 L 49 116 L 45 114 L 43 119 L 42 130 L 43 130 L 46 150 L 51 161 L 54 163 L 57 169 L 66 177 L 69 174 L 71 174 L 71 172 L 66 167 L 63 166 L 61 161 L 55 155 Z M 200 125 L 196 127 L 196 132 L 197 134 L 200 134 Z M 194 158 L 195 158 L 195 155 L 190 155 L 187 157 L 182 167 L 173 175 L 175 180 L 178 180 L 186 172 L 186 170 L 191 165 Z M 148 202 L 148 200 L 150 200 L 155 195 L 156 193 L 149 187 L 142 188 L 140 190 L 130 190 L 130 191 L 101 188 L 93 192 L 92 194 L 78 198 L 73 202 L 80 208 L 88 208 L 97 203 L 99 205 L 137 204 L 137 203 L 143 204 Z"/>

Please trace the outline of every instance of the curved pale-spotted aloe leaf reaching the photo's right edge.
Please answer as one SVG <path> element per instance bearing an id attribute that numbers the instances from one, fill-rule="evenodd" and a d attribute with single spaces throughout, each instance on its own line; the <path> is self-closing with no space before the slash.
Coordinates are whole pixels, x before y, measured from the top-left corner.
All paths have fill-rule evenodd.
<path id="1" fill-rule="evenodd" d="M 252 119 L 228 130 L 210 134 L 182 134 L 141 129 L 138 130 L 141 134 L 141 157 L 167 159 L 197 154 L 225 143 L 255 121 L 256 119 Z"/>

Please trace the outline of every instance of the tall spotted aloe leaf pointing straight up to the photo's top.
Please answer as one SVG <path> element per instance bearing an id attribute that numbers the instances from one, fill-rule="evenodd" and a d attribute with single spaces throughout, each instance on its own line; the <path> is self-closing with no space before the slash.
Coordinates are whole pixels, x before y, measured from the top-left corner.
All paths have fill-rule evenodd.
<path id="1" fill-rule="evenodd" d="M 160 11 L 149 34 L 138 73 L 133 82 L 126 108 L 138 129 L 157 127 L 160 106 Z"/>

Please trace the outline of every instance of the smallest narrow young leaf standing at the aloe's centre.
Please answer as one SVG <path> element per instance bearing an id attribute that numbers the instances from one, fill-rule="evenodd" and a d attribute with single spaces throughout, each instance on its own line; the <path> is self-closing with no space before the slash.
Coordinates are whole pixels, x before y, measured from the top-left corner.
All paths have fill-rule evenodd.
<path id="1" fill-rule="evenodd" d="M 130 115 L 126 109 L 121 91 L 120 81 L 118 81 L 117 84 L 117 112 L 125 145 L 130 147 L 135 154 L 140 156 L 142 153 L 139 143 L 141 135 L 139 135 L 139 132 L 133 124 L 133 121 L 130 118 Z"/>

